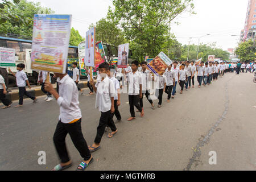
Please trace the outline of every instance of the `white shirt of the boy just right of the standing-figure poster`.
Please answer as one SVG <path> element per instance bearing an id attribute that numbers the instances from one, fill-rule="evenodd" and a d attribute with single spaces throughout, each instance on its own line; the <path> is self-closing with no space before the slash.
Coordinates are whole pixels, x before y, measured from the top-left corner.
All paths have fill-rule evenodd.
<path id="1" fill-rule="evenodd" d="M 139 85 L 142 85 L 142 74 L 140 72 L 130 72 L 128 73 L 128 80 L 129 80 L 129 90 L 128 94 L 130 96 L 137 96 L 139 95 Z"/>

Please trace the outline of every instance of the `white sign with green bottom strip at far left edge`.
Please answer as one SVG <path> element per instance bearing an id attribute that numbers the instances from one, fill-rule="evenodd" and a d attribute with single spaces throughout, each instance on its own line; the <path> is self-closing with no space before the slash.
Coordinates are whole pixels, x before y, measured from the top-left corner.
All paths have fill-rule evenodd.
<path id="1" fill-rule="evenodd" d="M 15 67 L 15 49 L 0 47 L 0 66 Z"/>

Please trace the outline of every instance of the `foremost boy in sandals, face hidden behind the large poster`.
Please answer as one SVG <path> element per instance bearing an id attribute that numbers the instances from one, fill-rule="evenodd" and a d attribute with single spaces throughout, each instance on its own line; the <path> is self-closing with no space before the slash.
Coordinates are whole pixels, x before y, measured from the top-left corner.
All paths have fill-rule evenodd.
<path id="1" fill-rule="evenodd" d="M 67 134 L 72 139 L 73 144 L 84 159 L 77 167 L 77 171 L 84 171 L 86 167 L 93 162 L 88 145 L 82 135 L 81 122 L 82 114 L 79 107 L 79 91 L 71 77 L 67 73 L 54 73 L 59 78 L 59 94 L 53 88 L 50 82 L 45 83 L 45 90 L 50 92 L 57 100 L 60 106 L 59 122 L 57 123 L 53 142 L 57 154 L 60 158 L 60 164 L 55 166 L 52 171 L 61 171 L 72 166 L 69 159 L 65 138 Z"/>

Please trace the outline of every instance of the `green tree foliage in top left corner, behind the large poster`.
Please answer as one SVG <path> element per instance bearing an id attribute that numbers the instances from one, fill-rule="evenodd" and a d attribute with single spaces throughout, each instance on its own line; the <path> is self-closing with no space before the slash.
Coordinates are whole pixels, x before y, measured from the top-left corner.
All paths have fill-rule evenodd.
<path id="1" fill-rule="evenodd" d="M 32 36 L 34 14 L 53 14 L 51 9 L 42 7 L 40 2 L 33 3 L 20 0 L 14 3 L 9 2 L 2 9 L 8 12 L 6 16 L 1 15 L 0 34 L 17 34 Z"/>

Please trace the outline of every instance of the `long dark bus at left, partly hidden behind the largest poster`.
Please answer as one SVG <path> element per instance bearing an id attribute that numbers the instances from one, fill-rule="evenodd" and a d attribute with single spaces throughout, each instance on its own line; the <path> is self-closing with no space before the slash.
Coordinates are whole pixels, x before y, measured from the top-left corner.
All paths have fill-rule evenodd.
<path id="1" fill-rule="evenodd" d="M 0 36 L 0 47 L 13 48 L 15 49 L 15 62 L 16 65 L 23 63 L 26 65 L 24 72 L 27 74 L 28 81 L 31 84 L 37 84 L 38 82 L 38 72 L 32 71 L 31 69 L 31 59 L 30 53 L 32 48 L 32 40 L 20 39 L 20 38 L 11 38 L 7 36 Z M 68 48 L 68 61 L 72 62 L 79 59 L 78 47 L 69 46 Z M 8 67 L 7 67 L 8 69 Z M 10 67 L 11 71 L 16 73 L 16 67 Z M 53 73 L 50 73 L 51 82 L 55 82 L 53 78 Z M 9 75 L 9 87 L 16 85 L 16 79 L 14 76 Z"/>

